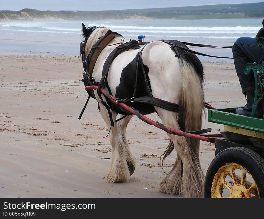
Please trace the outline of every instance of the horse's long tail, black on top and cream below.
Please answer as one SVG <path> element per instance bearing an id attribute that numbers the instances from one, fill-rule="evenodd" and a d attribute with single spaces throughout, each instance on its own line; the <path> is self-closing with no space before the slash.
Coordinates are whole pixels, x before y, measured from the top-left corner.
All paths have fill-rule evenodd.
<path id="1" fill-rule="evenodd" d="M 188 61 L 187 61 L 188 60 Z M 180 69 L 182 73 L 182 96 L 180 109 L 178 112 L 178 124 L 181 131 L 197 131 L 202 127 L 202 114 L 204 112 L 204 92 L 203 92 L 203 68 L 196 56 L 191 54 L 181 55 L 179 58 Z M 194 63 L 190 64 L 190 63 Z M 186 138 L 193 159 L 199 162 L 200 141 L 193 138 Z M 165 158 L 173 151 L 174 145 L 172 140 L 164 151 L 161 159 L 163 167 Z"/>

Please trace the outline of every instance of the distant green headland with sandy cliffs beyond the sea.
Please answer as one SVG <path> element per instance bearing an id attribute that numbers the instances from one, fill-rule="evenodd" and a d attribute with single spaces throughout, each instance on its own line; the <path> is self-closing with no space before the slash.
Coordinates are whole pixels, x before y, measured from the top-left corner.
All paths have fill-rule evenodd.
<path id="1" fill-rule="evenodd" d="M 20 11 L 0 11 L 0 20 L 230 19 L 256 17 L 264 17 L 264 1 L 245 4 L 217 4 L 104 11 L 40 11 L 29 8 Z"/>

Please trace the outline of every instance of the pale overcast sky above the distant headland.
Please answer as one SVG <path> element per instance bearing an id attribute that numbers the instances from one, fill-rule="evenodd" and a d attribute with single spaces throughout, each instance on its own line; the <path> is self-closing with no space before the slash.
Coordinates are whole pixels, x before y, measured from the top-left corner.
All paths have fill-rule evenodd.
<path id="1" fill-rule="evenodd" d="M 263 1 L 263 0 L 262 0 Z M 0 10 L 117 10 L 131 8 L 180 7 L 208 4 L 260 2 L 257 0 L 0 0 Z"/>

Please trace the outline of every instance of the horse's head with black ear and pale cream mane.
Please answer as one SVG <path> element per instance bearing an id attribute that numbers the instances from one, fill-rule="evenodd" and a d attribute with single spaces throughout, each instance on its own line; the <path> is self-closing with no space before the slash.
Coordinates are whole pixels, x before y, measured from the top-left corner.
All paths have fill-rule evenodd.
<path id="1" fill-rule="evenodd" d="M 81 54 L 86 57 L 91 50 L 91 47 L 95 44 L 99 37 L 105 35 L 109 29 L 106 27 L 88 27 L 86 28 L 85 25 L 82 23 L 82 36 L 84 37 L 85 41 L 81 43 L 80 52 Z M 85 49 L 83 49 L 83 46 Z"/>

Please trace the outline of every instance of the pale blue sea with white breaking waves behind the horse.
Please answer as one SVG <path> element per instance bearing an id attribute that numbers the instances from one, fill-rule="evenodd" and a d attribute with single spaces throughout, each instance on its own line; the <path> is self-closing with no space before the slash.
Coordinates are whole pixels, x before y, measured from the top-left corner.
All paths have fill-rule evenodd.
<path id="1" fill-rule="evenodd" d="M 106 20 L 106 21 L 0 21 L 0 54 L 59 54 L 80 55 L 83 40 L 82 23 L 105 26 L 123 35 L 127 41 L 146 35 L 145 41 L 175 39 L 195 44 L 232 46 L 239 37 L 255 37 L 262 27 L 259 19 L 203 19 L 203 20 Z M 232 58 L 231 49 L 190 49 L 208 55 Z M 227 58 L 198 55 L 201 61 L 232 62 Z"/>

